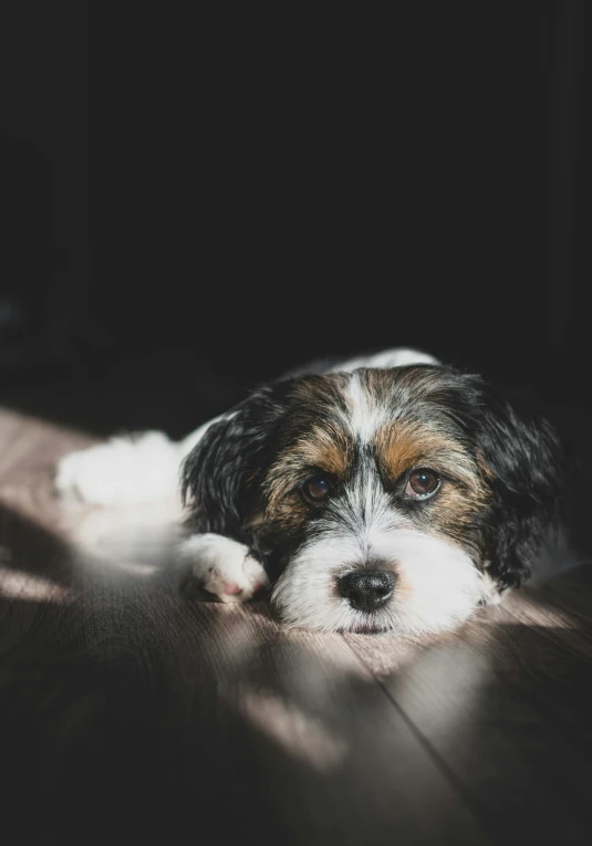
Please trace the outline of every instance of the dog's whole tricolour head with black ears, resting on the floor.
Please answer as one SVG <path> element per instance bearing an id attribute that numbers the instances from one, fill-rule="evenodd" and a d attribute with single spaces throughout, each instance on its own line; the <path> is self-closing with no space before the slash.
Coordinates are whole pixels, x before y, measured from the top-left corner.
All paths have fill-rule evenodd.
<path id="1" fill-rule="evenodd" d="M 185 464 L 198 531 L 247 541 L 292 624 L 453 628 L 528 575 L 559 477 L 550 427 L 446 367 L 292 379 L 215 424 Z"/>

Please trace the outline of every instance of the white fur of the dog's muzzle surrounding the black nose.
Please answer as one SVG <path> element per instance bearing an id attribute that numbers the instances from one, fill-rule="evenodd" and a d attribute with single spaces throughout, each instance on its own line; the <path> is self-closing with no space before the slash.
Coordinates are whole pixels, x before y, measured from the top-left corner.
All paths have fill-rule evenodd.
<path id="1" fill-rule="evenodd" d="M 391 600 L 365 614 L 341 596 L 337 579 L 373 560 L 384 562 L 396 583 Z M 396 528 L 375 530 L 364 539 L 336 529 L 299 550 L 278 581 L 273 600 L 283 619 L 295 626 L 422 635 L 454 628 L 489 593 L 467 553 L 443 539 Z"/>

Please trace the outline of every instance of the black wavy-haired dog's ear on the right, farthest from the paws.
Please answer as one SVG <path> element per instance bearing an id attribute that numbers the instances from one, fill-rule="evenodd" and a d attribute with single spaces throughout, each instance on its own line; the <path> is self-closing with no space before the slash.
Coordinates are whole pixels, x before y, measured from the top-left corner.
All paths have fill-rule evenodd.
<path id="1" fill-rule="evenodd" d="M 472 409 L 478 458 L 492 493 L 489 573 L 518 586 L 549 540 L 562 493 L 563 455 L 553 427 L 522 398 L 480 384 Z"/>

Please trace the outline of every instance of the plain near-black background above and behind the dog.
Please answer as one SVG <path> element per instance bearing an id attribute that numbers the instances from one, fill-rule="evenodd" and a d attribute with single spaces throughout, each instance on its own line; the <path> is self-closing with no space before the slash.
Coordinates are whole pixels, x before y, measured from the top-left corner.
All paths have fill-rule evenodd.
<path id="1" fill-rule="evenodd" d="M 180 434 L 408 344 L 588 405 L 583 2 L 2 15 L 4 403 Z"/>

